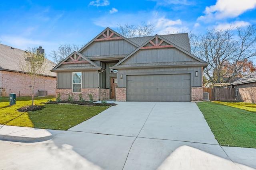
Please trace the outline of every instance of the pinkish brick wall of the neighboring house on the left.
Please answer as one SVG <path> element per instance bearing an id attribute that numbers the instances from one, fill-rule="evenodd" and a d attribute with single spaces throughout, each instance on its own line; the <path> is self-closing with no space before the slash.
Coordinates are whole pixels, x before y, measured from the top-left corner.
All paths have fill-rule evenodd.
<path id="1" fill-rule="evenodd" d="M 10 93 L 15 93 L 16 97 L 20 96 L 31 96 L 30 85 L 31 81 L 29 78 L 25 78 L 24 74 L 9 71 L 0 71 L 0 88 L 5 89 L 3 93 L 9 96 Z M 35 96 L 38 95 L 38 90 L 47 90 L 49 96 L 55 95 L 56 78 L 40 76 L 36 82 L 34 88 Z"/>

